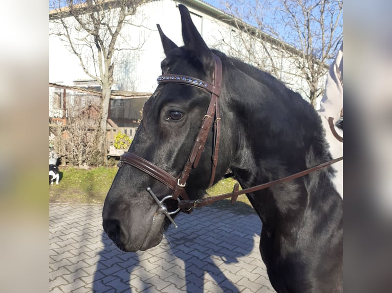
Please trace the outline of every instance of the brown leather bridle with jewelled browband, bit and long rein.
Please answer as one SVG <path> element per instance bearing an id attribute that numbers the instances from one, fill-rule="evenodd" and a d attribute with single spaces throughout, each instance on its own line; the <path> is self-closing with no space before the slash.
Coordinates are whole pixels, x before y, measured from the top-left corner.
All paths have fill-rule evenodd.
<path id="1" fill-rule="evenodd" d="M 237 200 L 237 197 L 241 194 L 262 190 L 264 188 L 268 188 L 279 183 L 287 182 L 289 180 L 293 180 L 295 178 L 305 176 L 311 172 L 315 172 L 316 170 L 325 168 L 343 159 L 343 157 L 339 157 L 337 159 L 330 160 L 328 162 L 303 170 L 296 174 L 275 181 L 271 181 L 268 183 L 260 184 L 254 187 L 242 189 L 242 190 L 239 190 L 239 185 L 238 183 L 236 183 L 233 187 L 232 192 L 221 194 L 219 196 L 199 199 L 199 200 L 190 200 L 185 191 L 186 182 L 188 180 L 192 168 L 196 168 L 198 166 L 212 124 L 213 124 L 213 148 L 212 148 L 212 156 L 211 156 L 212 167 L 211 167 L 211 177 L 210 177 L 209 186 L 211 186 L 214 182 L 215 170 L 218 161 L 220 129 L 221 129 L 221 124 L 220 124 L 221 117 L 219 114 L 218 101 L 219 101 L 219 96 L 221 94 L 221 85 L 222 85 L 222 63 L 221 63 L 221 59 L 218 56 L 213 54 L 213 57 L 215 60 L 215 69 L 214 69 L 212 84 L 183 75 L 165 74 L 159 76 L 157 79 L 158 84 L 167 84 L 167 83 L 185 84 L 185 85 L 201 88 L 211 94 L 210 104 L 207 108 L 206 115 L 202 119 L 198 136 L 194 139 L 193 148 L 190 152 L 188 161 L 186 162 L 180 175 L 177 177 L 173 177 L 165 170 L 158 167 L 157 165 L 129 152 L 125 152 L 123 155 L 121 155 L 120 162 L 118 163 L 119 167 L 122 167 L 124 163 L 132 165 L 135 168 L 141 170 L 142 172 L 160 181 L 168 188 L 170 188 L 170 190 L 172 190 L 172 194 L 170 196 L 166 196 L 163 200 L 159 201 L 159 199 L 151 191 L 151 188 L 147 187 L 147 191 L 151 194 L 151 196 L 153 196 L 153 198 L 156 200 L 156 202 L 160 207 L 159 212 L 165 213 L 173 224 L 175 223 L 173 222 L 170 215 L 180 210 L 190 213 L 193 208 L 206 206 L 212 204 L 213 202 L 227 199 L 227 198 L 231 198 L 231 203 L 234 203 Z M 182 200 L 180 200 L 179 197 L 181 197 Z M 178 201 L 178 209 L 176 211 L 168 212 L 167 209 L 165 209 L 163 202 L 168 198 Z M 161 211 L 162 208 L 163 211 Z M 176 224 L 175 226 L 177 228 Z"/>

